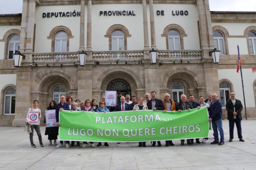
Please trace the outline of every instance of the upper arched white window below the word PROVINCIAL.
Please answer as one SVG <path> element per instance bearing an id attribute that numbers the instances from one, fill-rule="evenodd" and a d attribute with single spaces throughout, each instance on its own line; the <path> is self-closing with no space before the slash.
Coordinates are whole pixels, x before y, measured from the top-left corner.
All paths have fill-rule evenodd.
<path id="1" fill-rule="evenodd" d="M 111 35 L 111 39 L 113 51 L 124 50 L 124 33 L 122 31 L 114 31 Z"/>

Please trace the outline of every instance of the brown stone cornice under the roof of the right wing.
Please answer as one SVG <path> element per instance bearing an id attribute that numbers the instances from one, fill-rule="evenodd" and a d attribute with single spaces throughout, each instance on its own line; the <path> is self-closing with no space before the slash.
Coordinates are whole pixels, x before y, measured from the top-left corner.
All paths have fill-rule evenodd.
<path id="1" fill-rule="evenodd" d="M 212 23 L 256 23 L 256 12 L 211 11 Z"/>

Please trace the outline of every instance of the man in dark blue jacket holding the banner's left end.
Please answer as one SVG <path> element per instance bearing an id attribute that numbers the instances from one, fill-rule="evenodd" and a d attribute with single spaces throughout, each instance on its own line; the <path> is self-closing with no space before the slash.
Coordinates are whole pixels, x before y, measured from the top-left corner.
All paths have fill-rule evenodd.
<path id="1" fill-rule="evenodd" d="M 60 103 L 56 105 L 56 109 L 55 109 L 55 116 L 56 116 L 56 124 L 58 127 L 60 127 L 59 124 L 59 112 L 62 110 L 69 110 L 69 105 L 67 103 L 65 103 L 65 96 L 60 96 Z M 63 147 L 63 140 L 60 141 L 60 143 L 56 146 L 58 147 Z M 69 147 L 69 141 L 66 141 L 66 147 Z"/>

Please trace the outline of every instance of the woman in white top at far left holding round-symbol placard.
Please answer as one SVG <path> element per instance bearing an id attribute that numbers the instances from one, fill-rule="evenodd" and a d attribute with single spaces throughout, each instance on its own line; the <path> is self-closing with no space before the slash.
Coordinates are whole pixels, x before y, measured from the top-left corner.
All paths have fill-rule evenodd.
<path id="1" fill-rule="evenodd" d="M 36 130 L 36 133 L 37 133 L 37 136 L 39 139 L 39 143 L 40 143 L 40 147 L 44 147 L 44 145 L 42 143 L 42 135 L 40 132 L 39 118 L 41 118 L 41 110 L 38 108 L 38 100 L 34 100 L 33 104 L 34 104 L 34 106 L 33 106 L 33 108 L 29 108 L 27 118 L 26 118 L 26 122 L 28 125 L 30 125 L 31 131 L 32 131 L 29 134 L 31 147 L 33 147 L 33 148 L 36 147 L 36 145 L 33 142 L 34 129 Z"/>

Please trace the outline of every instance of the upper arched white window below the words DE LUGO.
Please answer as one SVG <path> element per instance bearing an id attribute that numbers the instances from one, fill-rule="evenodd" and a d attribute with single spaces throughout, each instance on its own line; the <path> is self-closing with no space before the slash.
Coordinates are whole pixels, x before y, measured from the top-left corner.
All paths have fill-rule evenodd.
<path id="1" fill-rule="evenodd" d="M 168 44 L 170 50 L 180 49 L 180 34 L 176 30 L 168 32 Z"/>

